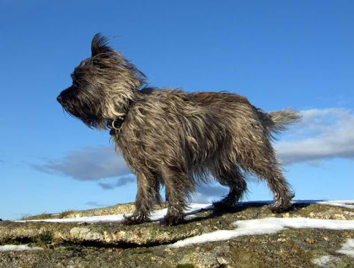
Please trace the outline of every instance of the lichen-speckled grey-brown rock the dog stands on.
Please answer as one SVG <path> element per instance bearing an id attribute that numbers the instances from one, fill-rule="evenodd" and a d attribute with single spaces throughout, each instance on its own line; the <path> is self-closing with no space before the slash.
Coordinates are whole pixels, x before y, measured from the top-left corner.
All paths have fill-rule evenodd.
<path id="1" fill-rule="evenodd" d="M 62 217 L 130 213 L 133 204 Z M 79 216 L 77 216 L 79 215 Z M 32 219 L 54 218 L 39 215 Z M 337 251 L 354 231 L 286 229 L 265 235 L 170 248 L 168 244 L 216 230 L 235 229 L 236 220 L 265 217 L 308 217 L 354 220 L 354 209 L 322 204 L 295 204 L 288 213 L 273 214 L 264 204 L 241 204 L 235 211 L 214 215 L 201 211 L 185 224 L 0 222 L 0 244 L 28 244 L 41 251 L 0 251 L 0 267 L 354 267 L 354 258 Z M 318 261 L 316 261 L 318 260 Z"/>

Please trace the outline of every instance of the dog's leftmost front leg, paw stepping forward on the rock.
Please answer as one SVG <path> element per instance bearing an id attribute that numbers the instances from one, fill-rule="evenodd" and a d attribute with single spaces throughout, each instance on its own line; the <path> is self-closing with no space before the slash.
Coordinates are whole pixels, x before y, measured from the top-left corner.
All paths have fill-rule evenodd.
<path id="1" fill-rule="evenodd" d="M 136 210 L 133 215 L 124 215 L 124 224 L 140 224 L 149 221 L 151 207 L 153 206 L 153 193 L 156 191 L 155 177 L 148 170 L 136 173 L 138 193 L 136 194 Z"/>

